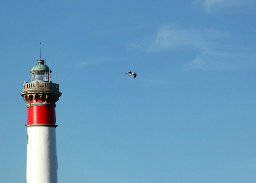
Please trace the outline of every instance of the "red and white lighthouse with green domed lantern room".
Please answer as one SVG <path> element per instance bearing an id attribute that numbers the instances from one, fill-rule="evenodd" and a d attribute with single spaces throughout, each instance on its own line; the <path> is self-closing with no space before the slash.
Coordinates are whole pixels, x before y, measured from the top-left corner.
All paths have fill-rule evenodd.
<path id="1" fill-rule="evenodd" d="M 51 72 L 44 60 L 37 60 L 31 82 L 25 81 L 20 93 L 28 108 L 26 183 L 57 183 L 55 103 L 61 92 Z"/>

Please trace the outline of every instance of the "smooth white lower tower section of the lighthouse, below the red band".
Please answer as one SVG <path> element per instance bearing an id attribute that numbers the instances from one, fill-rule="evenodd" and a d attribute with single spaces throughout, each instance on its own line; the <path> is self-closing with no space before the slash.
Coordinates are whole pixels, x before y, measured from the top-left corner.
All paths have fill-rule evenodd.
<path id="1" fill-rule="evenodd" d="M 56 125 L 27 130 L 27 183 L 57 183 Z"/>

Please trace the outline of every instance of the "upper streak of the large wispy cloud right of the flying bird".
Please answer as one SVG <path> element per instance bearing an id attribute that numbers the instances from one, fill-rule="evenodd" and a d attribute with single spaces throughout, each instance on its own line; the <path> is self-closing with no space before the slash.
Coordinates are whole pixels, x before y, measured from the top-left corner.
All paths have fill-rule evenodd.
<path id="1" fill-rule="evenodd" d="M 216 41 L 228 37 L 228 33 L 213 29 L 181 28 L 175 25 L 163 25 L 151 40 L 129 44 L 129 48 L 144 51 L 161 51 L 179 47 L 208 49 L 216 45 Z"/>

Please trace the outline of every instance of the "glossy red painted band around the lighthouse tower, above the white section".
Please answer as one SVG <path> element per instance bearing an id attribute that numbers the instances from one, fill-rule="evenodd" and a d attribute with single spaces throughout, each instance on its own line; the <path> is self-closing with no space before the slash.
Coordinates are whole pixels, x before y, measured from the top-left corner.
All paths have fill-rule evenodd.
<path id="1" fill-rule="evenodd" d="M 28 108 L 28 125 L 55 125 L 55 108 L 51 106 L 32 106 Z"/>

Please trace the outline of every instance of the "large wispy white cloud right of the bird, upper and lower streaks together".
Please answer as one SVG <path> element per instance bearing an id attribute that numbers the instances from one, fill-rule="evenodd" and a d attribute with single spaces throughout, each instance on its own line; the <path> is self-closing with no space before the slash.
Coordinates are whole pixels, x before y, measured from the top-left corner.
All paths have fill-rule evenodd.
<path id="1" fill-rule="evenodd" d="M 151 40 L 133 43 L 129 47 L 146 52 L 193 50 L 194 57 L 181 65 L 184 71 L 236 70 L 253 64 L 256 55 L 228 45 L 228 38 L 230 35 L 224 31 L 163 25 Z"/>

